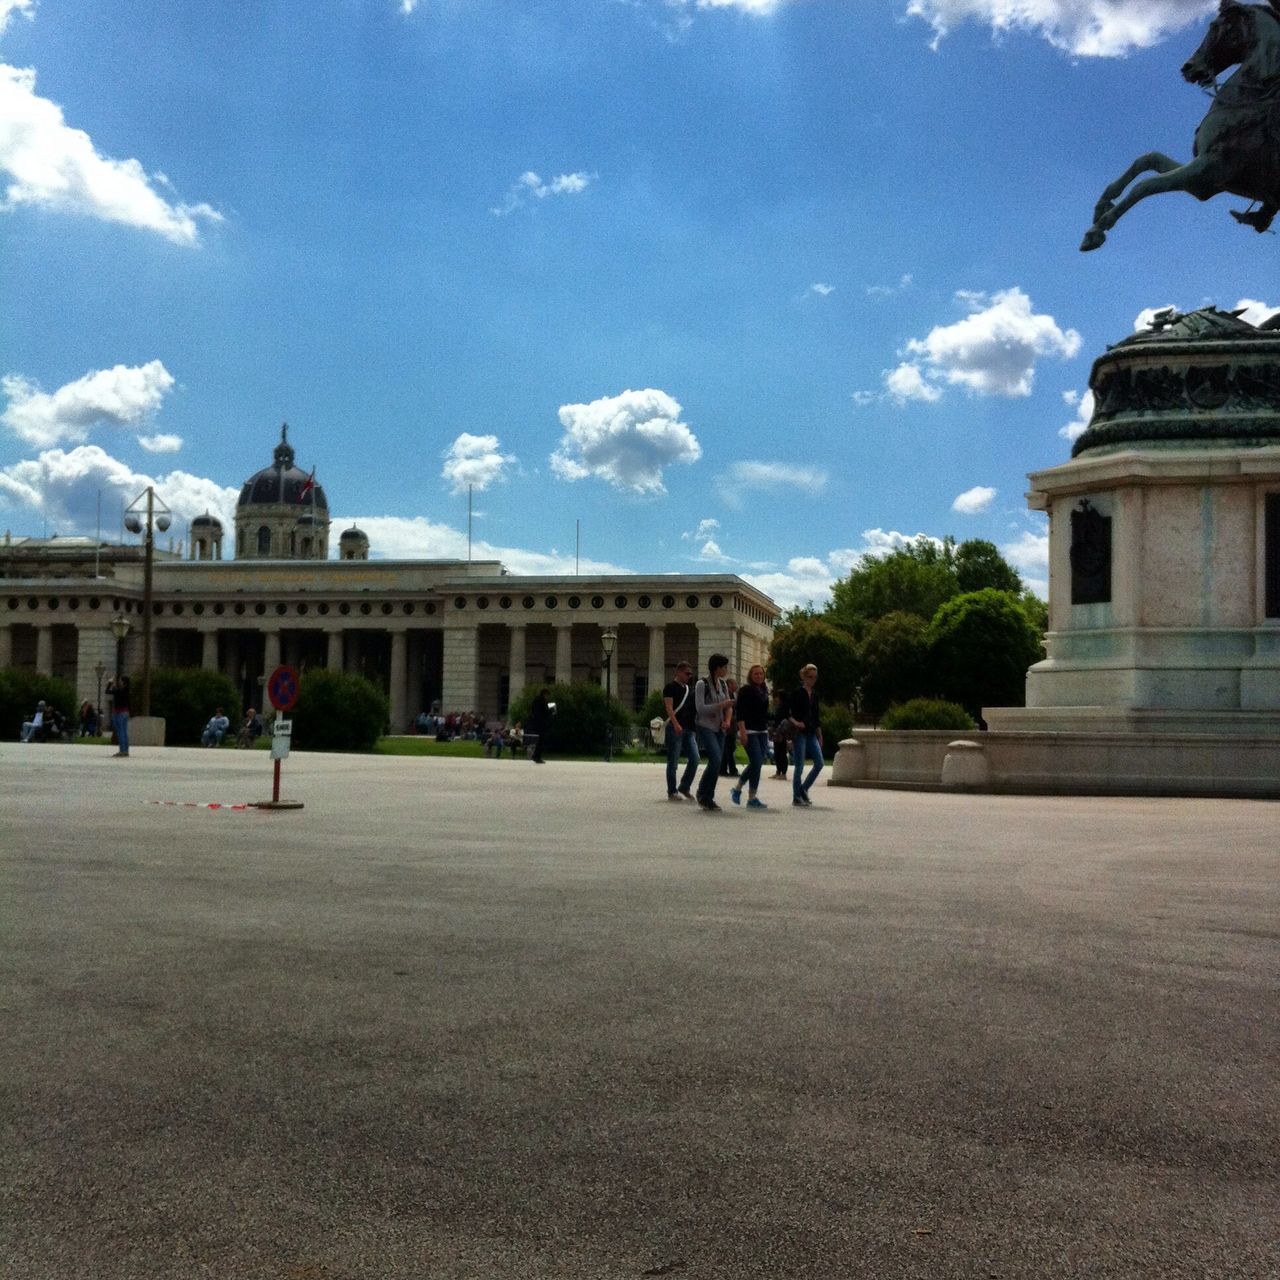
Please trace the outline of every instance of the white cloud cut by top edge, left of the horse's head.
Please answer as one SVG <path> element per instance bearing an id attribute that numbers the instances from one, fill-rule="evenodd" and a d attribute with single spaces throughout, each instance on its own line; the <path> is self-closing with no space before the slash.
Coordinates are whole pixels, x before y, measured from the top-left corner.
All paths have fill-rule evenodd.
<path id="1" fill-rule="evenodd" d="M 1217 5 L 1213 0 L 910 0 L 933 27 L 933 46 L 966 22 L 997 35 L 1024 31 L 1082 58 L 1119 58 L 1158 44 Z"/>

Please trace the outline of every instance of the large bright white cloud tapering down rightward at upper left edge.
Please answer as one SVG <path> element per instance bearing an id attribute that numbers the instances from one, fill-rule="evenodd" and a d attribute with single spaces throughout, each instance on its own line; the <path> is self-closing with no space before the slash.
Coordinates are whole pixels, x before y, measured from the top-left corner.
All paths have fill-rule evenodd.
<path id="1" fill-rule="evenodd" d="M 223 220 L 205 204 L 170 204 L 137 160 L 99 155 L 87 133 L 67 124 L 60 106 L 36 93 L 29 68 L 0 65 L 0 172 L 12 178 L 0 202 L 5 210 L 31 205 L 82 214 L 184 246 L 200 242 L 200 220 Z"/>

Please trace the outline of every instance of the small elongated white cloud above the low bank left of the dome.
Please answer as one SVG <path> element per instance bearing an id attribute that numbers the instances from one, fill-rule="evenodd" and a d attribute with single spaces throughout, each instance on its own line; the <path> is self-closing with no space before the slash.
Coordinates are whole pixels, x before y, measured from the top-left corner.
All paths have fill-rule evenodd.
<path id="1" fill-rule="evenodd" d="M 0 390 L 9 398 L 0 422 L 28 444 L 84 440 L 90 428 L 99 424 L 134 426 L 143 421 L 172 387 L 173 375 L 159 360 L 136 367 L 100 369 L 51 394 L 18 374 L 8 374 L 0 379 Z"/>

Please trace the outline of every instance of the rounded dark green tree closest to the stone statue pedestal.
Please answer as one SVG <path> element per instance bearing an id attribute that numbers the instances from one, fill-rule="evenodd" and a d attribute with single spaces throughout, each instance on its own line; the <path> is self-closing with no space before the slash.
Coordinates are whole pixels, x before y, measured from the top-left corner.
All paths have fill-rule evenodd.
<path id="1" fill-rule="evenodd" d="M 1027 668 L 1043 657 L 1021 600 L 992 588 L 943 604 L 928 641 L 943 696 L 979 719 L 983 707 L 1021 707 Z"/>

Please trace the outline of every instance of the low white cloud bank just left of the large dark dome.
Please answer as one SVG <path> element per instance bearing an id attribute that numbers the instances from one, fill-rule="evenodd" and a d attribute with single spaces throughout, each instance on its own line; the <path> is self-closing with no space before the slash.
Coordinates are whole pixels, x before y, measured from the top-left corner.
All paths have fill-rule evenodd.
<path id="1" fill-rule="evenodd" d="M 238 489 L 187 471 L 152 477 L 113 458 L 96 444 L 69 451 L 47 449 L 36 458 L 5 467 L 0 471 L 0 503 L 38 512 L 55 526 L 88 531 L 95 525 L 99 493 L 105 518 L 109 512 L 119 512 L 122 503 L 137 498 L 147 485 L 155 485 L 175 520 L 192 520 L 209 511 L 227 527 L 232 525 Z"/>

